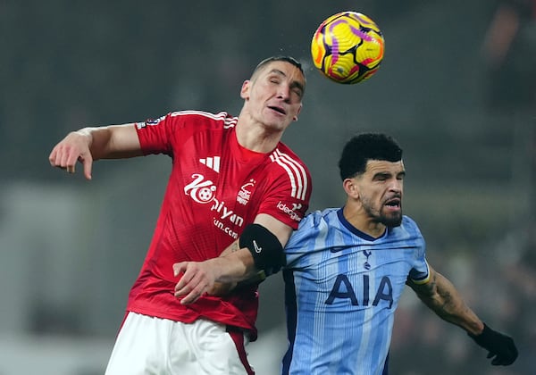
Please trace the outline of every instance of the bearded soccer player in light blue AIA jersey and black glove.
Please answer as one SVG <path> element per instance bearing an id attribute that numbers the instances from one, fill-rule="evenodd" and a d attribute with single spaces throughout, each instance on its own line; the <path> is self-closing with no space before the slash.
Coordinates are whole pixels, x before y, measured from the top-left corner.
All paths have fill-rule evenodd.
<path id="1" fill-rule="evenodd" d="M 362 134 L 339 161 L 347 202 L 313 212 L 285 246 L 289 349 L 283 374 L 388 373 L 394 313 L 406 285 L 440 318 L 515 361 L 511 337 L 490 329 L 456 288 L 426 262 L 415 221 L 402 214 L 402 150 L 383 134 Z"/>

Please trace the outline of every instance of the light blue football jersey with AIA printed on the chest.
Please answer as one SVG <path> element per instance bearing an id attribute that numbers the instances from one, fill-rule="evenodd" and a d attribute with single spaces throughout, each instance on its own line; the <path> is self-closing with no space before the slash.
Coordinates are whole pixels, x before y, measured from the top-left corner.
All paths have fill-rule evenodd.
<path id="1" fill-rule="evenodd" d="M 283 374 L 387 374 L 398 299 L 429 277 L 425 243 L 407 216 L 379 238 L 341 208 L 310 213 L 285 246 L 289 349 Z"/>

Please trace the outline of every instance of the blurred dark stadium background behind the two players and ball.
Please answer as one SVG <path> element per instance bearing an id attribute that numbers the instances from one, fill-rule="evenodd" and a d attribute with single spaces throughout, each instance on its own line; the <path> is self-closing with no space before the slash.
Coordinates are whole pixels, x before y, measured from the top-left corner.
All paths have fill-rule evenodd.
<path id="1" fill-rule="evenodd" d="M 238 114 L 243 79 L 272 54 L 297 57 L 308 74 L 304 111 L 284 141 L 312 171 L 311 209 L 343 203 L 336 165 L 348 137 L 397 137 L 405 212 L 420 222 L 431 264 L 520 349 L 515 365 L 492 368 L 463 331 L 408 292 L 391 371 L 536 373 L 535 105 L 487 100 L 496 77 L 482 45 L 497 6 L 0 2 L 0 374 L 104 371 L 170 170 L 164 156 L 97 162 L 88 182 L 52 169 L 52 146 L 82 126 L 174 110 Z M 309 57 L 314 29 L 342 10 L 371 16 L 386 39 L 380 71 L 357 86 L 322 78 Z M 506 93 L 522 89 L 513 83 Z M 258 325 L 251 362 L 259 375 L 276 374 L 286 346 L 281 276 L 261 286 Z"/>

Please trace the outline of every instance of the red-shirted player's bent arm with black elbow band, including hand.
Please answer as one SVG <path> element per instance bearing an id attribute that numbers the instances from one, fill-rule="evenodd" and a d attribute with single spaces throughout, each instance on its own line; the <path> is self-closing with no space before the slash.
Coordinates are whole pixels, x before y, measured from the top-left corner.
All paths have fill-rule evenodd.
<path id="1" fill-rule="evenodd" d="M 191 304 L 205 293 L 227 292 L 243 280 L 260 281 L 262 278 L 259 279 L 259 272 L 272 273 L 272 271 L 264 270 L 264 268 L 271 267 L 271 260 L 266 260 L 266 258 L 282 258 L 282 246 L 289 240 L 292 229 L 263 213 L 257 215 L 254 224 L 258 227 L 245 231 L 241 238 L 228 246 L 217 258 L 204 262 L 173 264 L 174 275 L 182 274 L 175 286 L 175 296 L 182 297 L 181 304 Z M 243 246 L 240 246 L 240 241 Z M 278 241 L 278 244 L 273 246 L 275 241 Z M 261 258 L 260 254 L 263 251 L 265 255 L 262 256 L 266 258 Z M 221 283 L 225 285 L 219 285 Z"/>

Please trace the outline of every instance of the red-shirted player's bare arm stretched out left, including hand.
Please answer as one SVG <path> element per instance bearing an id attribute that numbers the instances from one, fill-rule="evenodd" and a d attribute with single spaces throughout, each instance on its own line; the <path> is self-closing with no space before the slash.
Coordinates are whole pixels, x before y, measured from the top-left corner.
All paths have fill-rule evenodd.
<path id="1" fill-rule="evenodd" d="M 81 162 L 86 179 L 91 179 L 93 161 L 119 159 L 141 155 L 134 124 L 110 125 L 72 131 L 63 138 L 48 156 L 53 167 L 75 172 Z"/>

